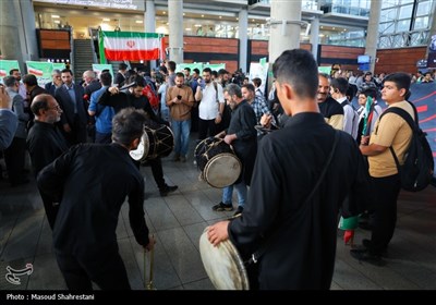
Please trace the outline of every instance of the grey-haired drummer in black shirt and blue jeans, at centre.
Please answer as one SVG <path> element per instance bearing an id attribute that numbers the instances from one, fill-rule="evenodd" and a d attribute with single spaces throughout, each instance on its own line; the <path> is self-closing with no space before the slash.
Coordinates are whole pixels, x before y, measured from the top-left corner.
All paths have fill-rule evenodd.
<path id="1" fill-rule="evenodd" d="M 222 202 L 213 207 L 213 210 L 233 210 L 232 194 L 233 186 L 238 192 L 238 209 L 234 215 L 240 215 L 244 209 L 246 200 L 246 186 L 252 179 L 254 161 L 257 152 L 256 114 L 253 108 L 242 97 L 241 88 L 230 84 L 225 88 L 225 99 L 232 109 L 230 125 L 227 131 L 217 135 L 223 137 L 225 142 L 233 146 L 234 152 L 242 163 L 240 179 L 230 186 L 222 190 Z"/>

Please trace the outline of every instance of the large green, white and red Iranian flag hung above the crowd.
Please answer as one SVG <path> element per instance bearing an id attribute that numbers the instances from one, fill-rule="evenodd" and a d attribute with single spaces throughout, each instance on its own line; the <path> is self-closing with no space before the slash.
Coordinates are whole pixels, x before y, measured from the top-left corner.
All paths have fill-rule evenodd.
<path id="1" fill-rule="evenodd" d="M 106 60 L 156 60 L 164 56 L 164 35 L 100 30 L 100 63 Z"/>

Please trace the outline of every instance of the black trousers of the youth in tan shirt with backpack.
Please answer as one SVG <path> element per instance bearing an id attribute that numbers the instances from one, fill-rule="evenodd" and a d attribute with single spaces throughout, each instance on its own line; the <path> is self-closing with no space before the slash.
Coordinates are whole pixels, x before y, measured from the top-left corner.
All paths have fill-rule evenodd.
<path id="1" fill-rule="evenodd" d="M 397 224 L 397 199 L 400 194 L 400 179 L 398 174 L 371 178 L 374 205 L 372 207 L 373 232 L 370 252 L 380 255 L 393 236 Z"/>

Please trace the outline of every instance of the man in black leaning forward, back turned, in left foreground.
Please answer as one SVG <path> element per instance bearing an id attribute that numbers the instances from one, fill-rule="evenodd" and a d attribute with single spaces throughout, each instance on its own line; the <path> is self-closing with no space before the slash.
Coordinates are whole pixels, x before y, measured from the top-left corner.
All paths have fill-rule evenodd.
<path id="1" fill-rule="evenodd" d="M 53 246 L 70 290 L 92 290 L 92 281 L 101 290 L 131 289 L 116 233 L 126 196 L 136 242 L 154 247 L 144 219 L 144 179 L 129 156 L 145 120 L 143 111 L 122 110 L 113 118 L 112 144 L 75 145 L 38 175 L 38 186 L 60 203 Z"/>

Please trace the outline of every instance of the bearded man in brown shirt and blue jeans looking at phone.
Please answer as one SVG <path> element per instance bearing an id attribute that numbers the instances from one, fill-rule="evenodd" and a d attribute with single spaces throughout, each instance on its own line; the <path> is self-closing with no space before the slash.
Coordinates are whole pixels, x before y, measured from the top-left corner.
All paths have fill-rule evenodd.
<path id="1" fill-rule="evenodd" d="M 171 130 L 174 133 L 173 161 L 186 162 L 191 131 L 191 108 L 194 106 L 194 95 L 191 87 L 184 85 L 183 73 L 175 74 L 175 86 L 167 90 L 166 100 L 170 109 Z"/>

